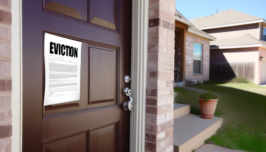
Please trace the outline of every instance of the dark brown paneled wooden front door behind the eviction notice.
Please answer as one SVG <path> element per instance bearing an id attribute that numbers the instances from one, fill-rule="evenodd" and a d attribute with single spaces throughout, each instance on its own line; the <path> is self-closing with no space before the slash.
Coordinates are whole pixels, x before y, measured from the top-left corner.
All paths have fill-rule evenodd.
<path id="1" fill-rule="evenodd" d="M 22 1 L 23 152 L 129 151 L 131 3 Z M 80 100 L 43 106 L 44 33 L 82 42 Z"/>

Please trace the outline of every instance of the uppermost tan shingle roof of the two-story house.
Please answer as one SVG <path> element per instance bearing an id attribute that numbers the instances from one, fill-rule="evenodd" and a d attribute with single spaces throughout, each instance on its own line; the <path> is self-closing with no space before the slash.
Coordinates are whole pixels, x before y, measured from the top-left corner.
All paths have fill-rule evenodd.
<path id="1" fill-rule="evenodd" d="M 257 21 L 256 23 L 259 23 L 264 22 L 265 20 L 263 18 L 248 15 L 232 9 L 221 11 L 214 15 L 189 20 L 190 23 L 201 30 L 208 29 L 207 27 L 218 28 L 215 26 L 219 25 L 232 24 L 231 26 L 235 26 L 235 23 L 246 23 L 252 21 Z"/>

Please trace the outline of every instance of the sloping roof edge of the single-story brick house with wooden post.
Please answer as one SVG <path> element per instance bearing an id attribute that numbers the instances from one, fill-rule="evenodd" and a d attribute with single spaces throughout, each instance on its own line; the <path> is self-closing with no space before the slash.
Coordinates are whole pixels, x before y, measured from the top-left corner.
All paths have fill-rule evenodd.
<path id="1" fill-rule="evenodd" d="M 181 23 L 184 23 L 187 25 L 187 31 L 188 32 L 191 32 L 191 33 L 194 33 L 196 35 L 200 35 L 200 36 L 203 36 L 205 38 L 208 38 L 210 40 L 216 40 L 215 37 L 211 36 L 210 34 L 196 28 L 193 24 L 191 24 L 180 12 L 178 12 L 176 10 L 176 20 L 181 22 Z"/>

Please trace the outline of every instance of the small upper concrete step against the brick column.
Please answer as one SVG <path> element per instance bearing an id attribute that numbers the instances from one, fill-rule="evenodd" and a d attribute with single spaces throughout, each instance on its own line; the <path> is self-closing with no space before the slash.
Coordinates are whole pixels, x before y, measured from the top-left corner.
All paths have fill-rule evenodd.
<path id="1" fill-rule="evenodd" d="M 174 103 L 174 119 L 190 113 L 190 105 Z"/>

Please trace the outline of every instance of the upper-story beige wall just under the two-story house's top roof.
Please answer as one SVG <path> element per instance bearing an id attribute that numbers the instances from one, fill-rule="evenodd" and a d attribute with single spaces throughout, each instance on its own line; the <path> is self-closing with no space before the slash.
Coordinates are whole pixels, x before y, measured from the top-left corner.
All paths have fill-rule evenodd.
<path id="1" fill-rule="evenodd" d="M 222 27 L 222 28 L 213 28 L 213 29 L 207 29 L 203 31 L 209 33 L 210 35 L 214 36 L 217 39 L 239 37 L 247 33 L 257 39 L 260 38 L 259 23 L 246 24 L 246 25 L 240 25 L 240 26 Z"/>

